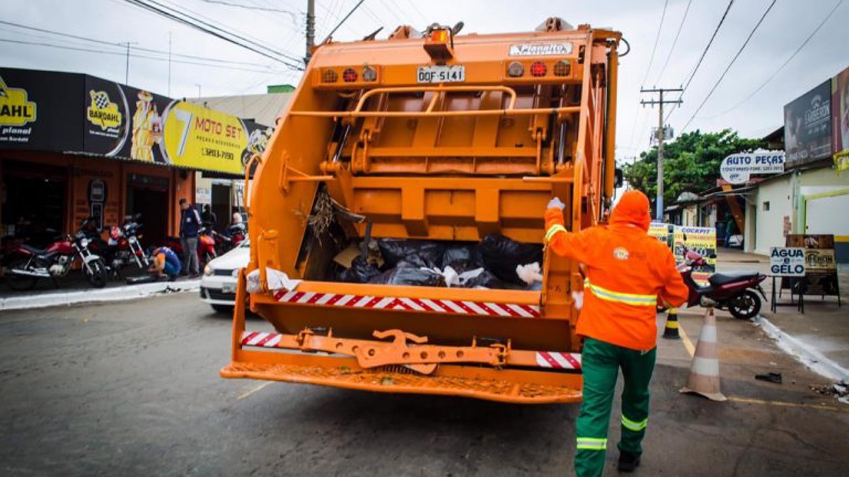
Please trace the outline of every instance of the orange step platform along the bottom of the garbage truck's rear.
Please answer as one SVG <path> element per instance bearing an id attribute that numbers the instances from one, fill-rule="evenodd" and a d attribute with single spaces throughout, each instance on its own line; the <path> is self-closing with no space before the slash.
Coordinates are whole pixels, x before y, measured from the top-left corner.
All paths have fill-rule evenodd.
<path id="1" fill-rule="evenodd" d="M 296 359 L 296 355 L 290 356 Z M 580 402 L 582 398 L 582 374 L 463 369 L 443 365 L 433 375 L 423 376 L 403 366 L 363 369 L 357 367 L 356 360 L 334 356 L 309 357 L 322 357 L 328 362 L 325 365 L 233 362 L 222 368 L 221 375 L 223 378 L 287 381 L 374 392 L 463 396 L 517 404 L 571 403 Z M 334 365 L 335 360 L 339 364 Z M 543 374 L 548 376 L 541 376 Z"/>

